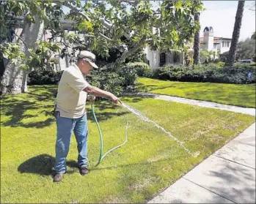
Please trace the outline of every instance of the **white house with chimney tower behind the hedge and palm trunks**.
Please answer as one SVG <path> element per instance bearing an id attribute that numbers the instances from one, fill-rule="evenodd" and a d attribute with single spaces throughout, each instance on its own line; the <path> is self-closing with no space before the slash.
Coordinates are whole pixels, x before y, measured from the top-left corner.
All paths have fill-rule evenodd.
<path id="1" fill-rule="evenodd" d="M 216 53 L 222 54 L 230 50 L 231 38 L 214 37 L 213 27 L 205 27 L 203 37 L 200 37 L 201 50 L 215 50 Z M 191 46 L 192 47 L 192 46 Z M 189 56 L 193 57 L 194 50 L 189 49 Z M 145 48 L 147 64 L 150 67 L 163 67 L 167 64 L 184 64 L 184 53 L 178 50 L 165 52 L 161 50 L 151 50 L 150 46 Z"/>

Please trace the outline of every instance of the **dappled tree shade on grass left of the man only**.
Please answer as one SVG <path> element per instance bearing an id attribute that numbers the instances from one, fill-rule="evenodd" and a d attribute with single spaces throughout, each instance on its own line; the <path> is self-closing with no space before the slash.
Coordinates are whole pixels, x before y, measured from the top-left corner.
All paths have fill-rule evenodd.
<path id="1" fill-rule="evenodd" d="M 10 116 L 6 121 L 1 121 L 1 126 L 22 126 L 43 128 L 51 125 L 55 118 L 51 116 L 51 110 L 54 108 L 54 97 L 56 96 L 56 87 L 54 86 L 33 86 L 29 88 L 26 94 L 6 94 L 1 96 L 1 115 Z M 44 105 L 42 102 L 53 102 L 53 105 Z M 29 114 L 29 110 L 41 110 L 40 112 Z M 45 121 L 23 123 L 24 118 L 34 118 L 44 113 L 49 116 Z"/>

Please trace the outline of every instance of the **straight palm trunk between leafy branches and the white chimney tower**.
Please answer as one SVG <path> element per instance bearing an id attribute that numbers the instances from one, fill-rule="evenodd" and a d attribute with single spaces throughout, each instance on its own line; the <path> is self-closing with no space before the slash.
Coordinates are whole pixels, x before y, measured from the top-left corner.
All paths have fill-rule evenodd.
<path id="1" fill-rule="evenodd" d="M 200 23 L 200 14 L 194 15 L 194 21 Z M 200 26 L 194 34 L 194 63 L 200 64 Z"/>

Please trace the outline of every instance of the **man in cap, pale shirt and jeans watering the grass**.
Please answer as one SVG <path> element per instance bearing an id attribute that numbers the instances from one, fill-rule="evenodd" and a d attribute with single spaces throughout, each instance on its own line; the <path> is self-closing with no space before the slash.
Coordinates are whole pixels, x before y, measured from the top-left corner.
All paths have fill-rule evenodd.
<path id="1" fill-rule="evenodd" d="M 63 174 L 66 171 L 66 158 L 72 132 L 76 136 L 80 174 L 86 175 L 89 173 L 87 168 L 88 127 L 85 110 L 87 94 L 95 97 L 108 97 L 115 104 L 118 103 L 114 94 L 90 86 L 87 83 L 84 75 L 88 75 L 92 69 L 98 69 L 95 64 L 95 55 L 83 50 L 78 54 L 77 63 L 65 69 L 59 81 L 54 109 L 57 126 L 54 182 L 62 181 Z"/>

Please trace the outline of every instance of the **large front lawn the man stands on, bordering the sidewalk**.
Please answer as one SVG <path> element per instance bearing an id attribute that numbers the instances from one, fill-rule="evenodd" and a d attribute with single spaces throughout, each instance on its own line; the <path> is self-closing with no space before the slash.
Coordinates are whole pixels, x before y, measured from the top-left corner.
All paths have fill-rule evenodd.
<path id="1" fill-rule="evenodd" d="M 50 114 L 56 87 L 32 86 L 29 90 L 28 94 L 1 99 L 1 203 L 145 203 L 255 121 L 253 116 L 240 113 L 122 98 L 184 141 L 190 151 L 200 151 L 192 157 L 161 129 L 118 105 L 97 102 L 104 152 L 125 140 L 125 118 L 128 143 L 95 167 L 100 139 L 88 113 L 91 172 L 84 177 L 78 173 L 76 140 L 72 137 L 67 174 L 56 184 L 51 177 L 56 124 Z M 89 105 L 87 108 L 89 112 Z"/>

